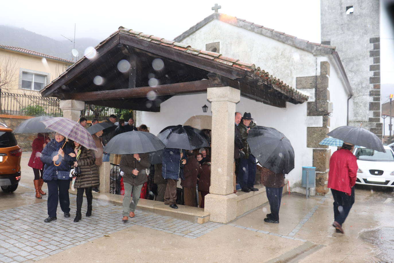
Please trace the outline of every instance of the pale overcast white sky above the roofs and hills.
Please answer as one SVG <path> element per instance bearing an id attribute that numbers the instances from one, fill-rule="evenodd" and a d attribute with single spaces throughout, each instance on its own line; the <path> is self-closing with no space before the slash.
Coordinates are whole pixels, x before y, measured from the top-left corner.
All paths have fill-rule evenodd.
<path id="1" fill-rule="evenodd" d="M 385 0 L 388 1 L 388 0 Z M 219 12 L 320 43 L 319 0 L 195 0 L 195 1 L 2 1 L 0 24 L 17 26 L 64 39 L 104 40 L 119 26 L 173 39 L 203 20 L 217 3 Z M 245 3 L 245 4 L 241 4 Z M 394 84 L 394 34 L 381 10 L 381 83 Z M 382 94 L 382 97 L 384 95 Z"/>

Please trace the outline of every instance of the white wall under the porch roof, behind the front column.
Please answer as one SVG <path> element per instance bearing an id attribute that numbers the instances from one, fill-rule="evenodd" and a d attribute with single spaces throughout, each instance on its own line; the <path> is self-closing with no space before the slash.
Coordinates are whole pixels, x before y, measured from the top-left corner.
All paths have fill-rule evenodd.
<path id="1" fill-rule="evenodd" d="M 161 112 L 138 112 L 137 125 L 141 123 L 150 127 L 150 131 L 157 135 L 169 125 L 183 124 L 194 115 L 204 115 L 202 106 L 208 106 L 206 115 L 211 115 L 210 102 L 206 100 L 206 93 L 195 95 L 177 95 L 161 104 Z M 312 166 L 312 149 L 307 148 L 307 126 L 322 126 L 322 117 L 307 117 L 307 104 L 287 103 L 286 108 L 276 108 L 241 97 L 236 110 L 251 112 L 257 125 L 273 127 L 283 132 L 293 145 L 296 159 L 295 168 L 286 178 L 290 187 L 301 180 L 301 166 Z M 304 188 L 292 188 L 292 191 L 303 193 Z"/>

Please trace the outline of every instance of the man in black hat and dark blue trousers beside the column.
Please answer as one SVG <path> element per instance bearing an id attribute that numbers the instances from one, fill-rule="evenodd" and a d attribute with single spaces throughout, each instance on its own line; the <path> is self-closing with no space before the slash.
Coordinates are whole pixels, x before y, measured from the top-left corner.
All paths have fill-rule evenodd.
<path id="1" fill-rule="evenodd" d="M 256 177 L 256 158 L 251 154 L 250 147 L 247 142 L 247 134 L 249 130 L 255 126 L 256 123 L 253 122 L 250 112 L 245 112 L 241 123 L 238 125 L 243 143 L 243 152 L 245 155 L 240 158 L 237 181 L 240 183 L 240 187 L 243 192 L 258 191 L 257 188 L 253 187 Z"/>

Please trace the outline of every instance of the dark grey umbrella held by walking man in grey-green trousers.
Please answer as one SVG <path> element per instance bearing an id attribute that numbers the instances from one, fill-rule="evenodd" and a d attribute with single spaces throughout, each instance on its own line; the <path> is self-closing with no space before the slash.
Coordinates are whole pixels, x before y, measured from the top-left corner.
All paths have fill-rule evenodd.
<path id="1" fill-rule="evenodd" d="M 105 145 L 104 151 L 116 154 L 149 153 L 164 147 L 162 141 L 150 132 L 130 131 L 114 136 Z"/>

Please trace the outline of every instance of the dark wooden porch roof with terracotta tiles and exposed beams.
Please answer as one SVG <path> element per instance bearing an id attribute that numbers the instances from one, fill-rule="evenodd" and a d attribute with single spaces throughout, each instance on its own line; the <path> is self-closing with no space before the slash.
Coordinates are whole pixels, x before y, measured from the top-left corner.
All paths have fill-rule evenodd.
<path id="1" fill-rule="evenodd" d="M 160 103 L 173 95 L 204 92 L 215 86 L 237 88 L 243 97 L 277 107 L 308 99 L 253 63 L 123 27 L 95 50 L 94 58 L 78 60 L 41 95 L 146 111 L 160 111 Z M 163 69 L 152 66 L 156 58 L 162 60 Z M 125 73 L 117 69 L 121 60 L 130 63 Z M 96 76 L 102 80 L 98 85 L 93 82 Z M 157 83 L 152 84 L 151 78 Z M 149 91 L 154 91 L 153 98 L 147 97 Z"/>

